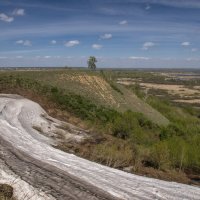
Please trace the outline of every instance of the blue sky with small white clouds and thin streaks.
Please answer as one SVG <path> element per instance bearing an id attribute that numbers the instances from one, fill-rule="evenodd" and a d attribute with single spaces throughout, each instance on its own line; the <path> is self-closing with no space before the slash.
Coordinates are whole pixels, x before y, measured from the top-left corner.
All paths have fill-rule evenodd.
<path id="1" fill-rule="evenodd" d="M 200 68 L 200 0 L 0 0 L 0 67 Z"/>

